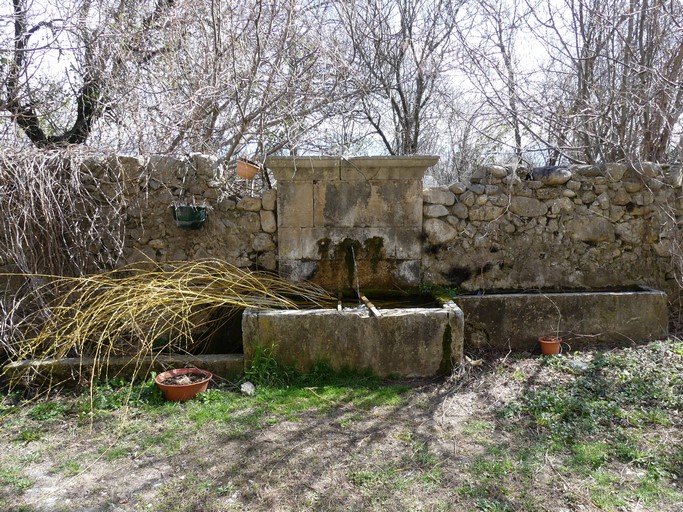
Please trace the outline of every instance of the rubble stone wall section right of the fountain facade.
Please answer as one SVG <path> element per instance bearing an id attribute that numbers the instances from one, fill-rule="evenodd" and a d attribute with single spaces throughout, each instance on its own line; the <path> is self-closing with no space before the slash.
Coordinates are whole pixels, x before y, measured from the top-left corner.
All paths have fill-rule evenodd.
<path id="1" fill-rule="evenodd" d="M 467 291 L 649 285 L 673 293 L 680 166 L 481 168 L 424 191 L 422 272 Z"/>

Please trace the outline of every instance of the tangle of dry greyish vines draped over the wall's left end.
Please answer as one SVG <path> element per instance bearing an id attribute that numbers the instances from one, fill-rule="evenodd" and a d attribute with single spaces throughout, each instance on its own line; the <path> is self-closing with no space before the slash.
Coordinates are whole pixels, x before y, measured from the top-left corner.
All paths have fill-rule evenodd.
<path id="1" fill-rule="evenodd" d="M 73 147 L 0 148 L 0 267 L 13 274 L 0 290 L 0 349 L 52 299 L 45 276 L 112 268 L 122 254 L 123 176 L 119 166 L 94 165 L 94 156 Z"/>

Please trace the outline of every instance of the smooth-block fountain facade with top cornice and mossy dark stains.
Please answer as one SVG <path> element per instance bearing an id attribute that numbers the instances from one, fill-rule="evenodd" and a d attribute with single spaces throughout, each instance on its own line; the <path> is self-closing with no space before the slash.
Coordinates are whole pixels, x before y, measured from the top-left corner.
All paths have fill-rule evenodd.
<path id="1" fill-rule="evenodd" d="M 438 157 L 276 157 L 280 275 L 330 290 L 417 287 L 422 178 Z"/>

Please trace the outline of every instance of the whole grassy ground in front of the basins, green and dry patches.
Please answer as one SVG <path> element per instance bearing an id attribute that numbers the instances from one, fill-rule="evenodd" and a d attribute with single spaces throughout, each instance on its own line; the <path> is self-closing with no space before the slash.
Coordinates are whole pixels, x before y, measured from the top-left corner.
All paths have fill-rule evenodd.
<path id="1" fill-rule="evenodd" d="M 76 508 L 678 510 L 683 343 L 482 368 L 450 393 L 324 363 L 301 375 L 263 349 L 254 396 L 169 403 L 151 380 L 6 395 L 0 509 L 31 510 L 57 478 Z M 96 492 L 90 474 L 114 476 Z"/>

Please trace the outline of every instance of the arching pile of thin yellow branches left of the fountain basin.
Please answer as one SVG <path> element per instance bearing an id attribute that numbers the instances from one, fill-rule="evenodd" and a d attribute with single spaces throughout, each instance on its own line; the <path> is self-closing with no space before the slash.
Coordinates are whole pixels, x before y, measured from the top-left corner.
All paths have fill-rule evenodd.
<path id="1" fill-rule="evenodd" d="M 41 296 L 56 298 L 46 305 L 48 314 L 26 319 L 31 328 L 23 331 L 30 334 L 7 347 L 13 361 L 89 356 L 98 366 L 124 353 L 139 361 L 169 349 L 192 350 L 193 333 L 224 321 L 224 314 L 214 313 L 226 308 L 296 308 L 333 300 L 315 285 L 212 259 L 50 277 L 43 288 L 49 290 L 38 290 Z"/>

